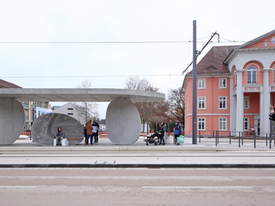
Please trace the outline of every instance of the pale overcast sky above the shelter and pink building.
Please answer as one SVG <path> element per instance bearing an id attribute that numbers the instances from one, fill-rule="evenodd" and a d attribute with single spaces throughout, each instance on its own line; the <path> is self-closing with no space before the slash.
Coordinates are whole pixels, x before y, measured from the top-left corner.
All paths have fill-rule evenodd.
<path id="1" fill-rule="evenodd" d="M 214 45 L 273 30 L 273 9 L 273 0 L 0 0 L 0 78 L 24 88 L 75 88 L 84 79 L 125 88 L 139 76 L 166 94 L 192 61 L 193 20 L 198 50 L 213 32 L 220 37 L 198 62 Z M 107 105 L 99 103 L 100 118 Z"/>

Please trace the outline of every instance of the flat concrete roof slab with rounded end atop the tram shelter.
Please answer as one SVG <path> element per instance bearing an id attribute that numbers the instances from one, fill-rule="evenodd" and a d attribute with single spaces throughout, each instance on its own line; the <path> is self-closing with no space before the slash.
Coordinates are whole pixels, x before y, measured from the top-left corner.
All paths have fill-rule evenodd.
<path id="1" fill-rule="evenodd" d="M 126 98 L 132 102 L 153 102 L 164 100 L 165 94 L 117 88 L 0 88 L 0 98 L 64 102 L 110 102 Z"/>

